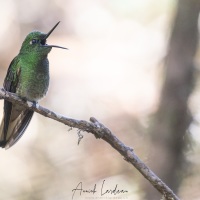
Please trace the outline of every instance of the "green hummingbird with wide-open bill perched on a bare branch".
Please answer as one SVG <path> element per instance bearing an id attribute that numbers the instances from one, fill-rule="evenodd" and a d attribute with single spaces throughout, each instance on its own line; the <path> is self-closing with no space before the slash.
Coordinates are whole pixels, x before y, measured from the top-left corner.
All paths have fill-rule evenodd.
<path id="1" fill-rule="evenodd" d="M 19 54 L 10 63 L 4 79 L 3 87 L 6 91 L 16 93 L 22 99 L 35 103 L 46 95 L 49 87 L 48 54 L 52 48 L 67 49 L 46 43 L 59 23 L 47 34 L 32 31 L 26 36 Z M 22 105 L 4 100 L 0 147 L 8 149 L 21 138 L 33 113 Z"/>

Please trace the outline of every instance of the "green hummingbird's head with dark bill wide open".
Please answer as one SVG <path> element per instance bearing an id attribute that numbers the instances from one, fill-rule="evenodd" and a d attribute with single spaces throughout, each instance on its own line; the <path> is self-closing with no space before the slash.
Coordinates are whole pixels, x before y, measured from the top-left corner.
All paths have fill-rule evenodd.
<path id="1" fill-rule="evenodd" d="M 48 33 L 42 33 L 39 31 L 33 31 L 29 33 L 24 42 L 22 43 L 20 53 L 29 53 L 29 54 L 39 54 L 39 55 L 47 55 L 52 47 L 67 49 L 65 47 L 57 46 L 57 45 L 48 45 L 47 38 L 54 31 L 54 29 L 58 26 L 60 22 L 58 22 Z"/>

